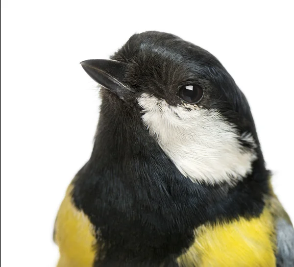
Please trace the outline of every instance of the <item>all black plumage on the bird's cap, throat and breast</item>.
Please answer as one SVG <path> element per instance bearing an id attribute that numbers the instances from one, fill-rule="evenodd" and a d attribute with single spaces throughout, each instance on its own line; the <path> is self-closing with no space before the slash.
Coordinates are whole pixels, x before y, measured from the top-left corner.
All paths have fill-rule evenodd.
<path id="1" fill-rule="evenodd" d="M 257 217 L 269 193 L 268 171 L 245 96 L 209 52 L 159 32 L 132 36 L 112 59 L 128 64 L 124 103 L 101 89 L 101 111 L 90 160 L 74 181 L 73 200 L 96 227 L 96 267 L 177 266 L 175 258 L 205 222 Z M 206 89 L 203 108 L 218 109 L 248 131 L 258 147 L 252 174 L 235 187 L 193 183 L 175 167 L 145 129 L 136 97 L 143 92 L 176 105 L 187 80 Z M 243 143 L 244 149 L 250 144 Z"/>

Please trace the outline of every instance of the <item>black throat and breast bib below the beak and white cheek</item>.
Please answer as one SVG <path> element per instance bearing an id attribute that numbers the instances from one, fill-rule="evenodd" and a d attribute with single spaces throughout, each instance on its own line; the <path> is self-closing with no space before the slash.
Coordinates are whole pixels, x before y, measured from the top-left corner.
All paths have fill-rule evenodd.
<path id="1" fill-rule="evenodd" d="M 269 192 L 261 151 L 252 174 L 234 187 L 193 183 L 148 134 L 136 106 L 106 91 L 102 99 L 93 153 L 73 182 L 75 205 L 104 243 L 96 266 L 172 262 L 199 225 L 259 216 Z"/>

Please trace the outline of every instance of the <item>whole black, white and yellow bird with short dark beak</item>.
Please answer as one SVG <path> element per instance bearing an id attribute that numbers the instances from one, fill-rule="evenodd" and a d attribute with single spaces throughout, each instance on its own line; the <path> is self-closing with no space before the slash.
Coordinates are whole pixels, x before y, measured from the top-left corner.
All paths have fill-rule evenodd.
<path id="1" fill-rule="evenodd" d="M 93 151 L 54 224 L 58 267 L 293 267 L 250 106 L 207 50 L 158 31 L 81 63 Z"/>

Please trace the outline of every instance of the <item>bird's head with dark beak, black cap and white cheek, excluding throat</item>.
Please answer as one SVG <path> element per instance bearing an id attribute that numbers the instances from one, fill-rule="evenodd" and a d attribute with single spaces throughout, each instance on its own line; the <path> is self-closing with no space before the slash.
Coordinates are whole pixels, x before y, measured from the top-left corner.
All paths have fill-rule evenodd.
<path id="1" fill-rule="evenodd" d="M 101 85 L 102 101 L 132 109 L 192 181 L 235 184 L 254 162 L 264 164 L 248 102 L 208 51 L 149 31 L 131 36 L 110 60 L 81 65 Z"/>

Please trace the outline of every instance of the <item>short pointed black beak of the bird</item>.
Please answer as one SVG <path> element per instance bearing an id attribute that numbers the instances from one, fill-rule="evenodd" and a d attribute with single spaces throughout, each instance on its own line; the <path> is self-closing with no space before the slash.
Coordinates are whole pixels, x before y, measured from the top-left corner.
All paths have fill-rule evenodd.
<path id="1" fill-rule="evenodd" d="M 116 60 L 90 59 L 82 61 L 80 64 L 93 80 L 121 99 L 124 99 L 130 91 L 133 92 L 123 84 L 126 63 Z"/>

